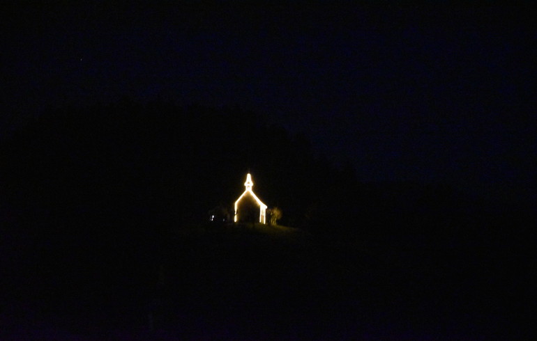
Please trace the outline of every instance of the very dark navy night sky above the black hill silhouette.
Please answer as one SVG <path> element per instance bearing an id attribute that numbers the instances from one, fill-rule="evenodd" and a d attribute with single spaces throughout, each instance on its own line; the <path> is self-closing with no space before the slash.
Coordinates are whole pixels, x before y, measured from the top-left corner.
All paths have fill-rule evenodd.
<path id="1" fill-rule="evenodd" d="M 535 183 L 537 31 L 522 8 L 1 12 L 2 134 L 46 107 L 162 97 L 260 113 L 364 181 Z"/>

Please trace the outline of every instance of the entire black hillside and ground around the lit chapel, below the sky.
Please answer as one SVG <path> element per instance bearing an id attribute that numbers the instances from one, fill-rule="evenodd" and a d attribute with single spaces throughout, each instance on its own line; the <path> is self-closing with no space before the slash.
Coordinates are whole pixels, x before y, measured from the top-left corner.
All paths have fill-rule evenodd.
<path id="1" fill-rule="evenodd" d="M 524 333 L 526 211 L 446 184 L 361 184 L 254 113 L 63 108 L 0 147 L 1 329 L 13 338 L 43 325 L 91 337 Z M 301 230 L 204 225 L 248 170 Z"/>

